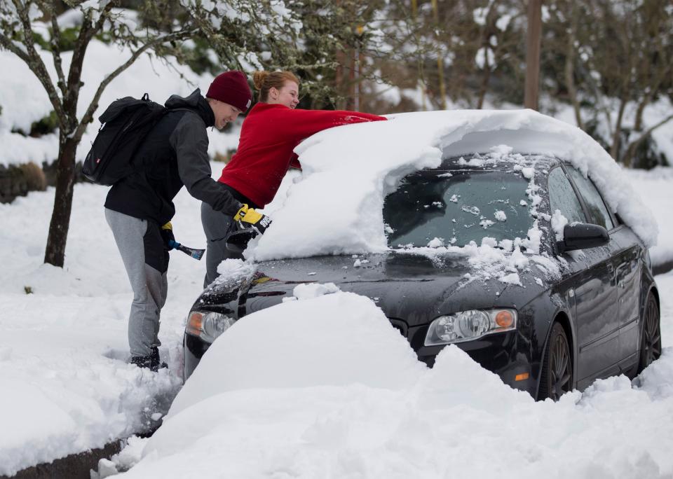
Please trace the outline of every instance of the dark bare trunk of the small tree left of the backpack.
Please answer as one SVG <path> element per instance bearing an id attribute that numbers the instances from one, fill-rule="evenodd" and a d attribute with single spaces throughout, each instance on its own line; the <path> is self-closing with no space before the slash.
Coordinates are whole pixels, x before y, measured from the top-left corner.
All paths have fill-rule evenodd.
<path id="1" fill-rule="evenodd" d="M 75 182 L 75 153 L 78 141 L 62 138 L 58 148 L 56 193 L 49 223 L 44 262 L 63 268 L 65 244 L 70 226 L 72 192 Z"/>

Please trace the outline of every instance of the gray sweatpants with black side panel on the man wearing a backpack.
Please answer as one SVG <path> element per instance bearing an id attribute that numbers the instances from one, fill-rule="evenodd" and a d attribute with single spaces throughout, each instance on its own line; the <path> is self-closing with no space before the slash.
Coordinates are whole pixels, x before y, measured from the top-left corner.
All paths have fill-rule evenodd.
<path id="1" fill-rule="evenodd" d="M 168 251 L 163 247 L 160 227 L 154 221 L 134 218 L 105 209 L 126 274 L 133 290 L 128 317 L 131 356 L 149 356 L 158 347 L 159 315 L 168 293 Z"/>

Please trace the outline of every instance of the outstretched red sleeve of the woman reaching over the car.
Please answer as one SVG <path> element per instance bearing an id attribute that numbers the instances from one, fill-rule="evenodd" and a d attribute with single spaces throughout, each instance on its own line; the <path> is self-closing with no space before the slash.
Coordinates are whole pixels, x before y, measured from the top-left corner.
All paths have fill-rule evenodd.
<path id="1" fill-rule="evenodd" d="M 339 125 L 386 120 L 383 116 L 372 115 L 372 113 L 348 110 L 288 109 L 284 113 L 286 118 L 283 125 L 287 128 L 285 134 L 289 134 L 298 140 Z"/>

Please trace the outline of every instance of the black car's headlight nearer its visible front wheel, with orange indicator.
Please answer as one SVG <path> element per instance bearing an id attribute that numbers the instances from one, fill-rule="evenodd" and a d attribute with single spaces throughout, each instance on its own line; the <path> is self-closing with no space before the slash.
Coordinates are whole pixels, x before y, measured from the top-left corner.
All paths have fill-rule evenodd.
<path id="1" fill-rule="evenodd" d="M 448 345 L 517 328 L 515 310 L 468 310 L 440 316 L 430 323 L 426 346 Z"/>

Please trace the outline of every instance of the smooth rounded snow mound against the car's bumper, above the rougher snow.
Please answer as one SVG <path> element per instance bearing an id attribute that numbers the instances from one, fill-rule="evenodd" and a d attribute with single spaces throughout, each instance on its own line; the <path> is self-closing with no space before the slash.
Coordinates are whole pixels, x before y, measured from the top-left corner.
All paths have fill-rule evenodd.
<path id="1" fill-rule="evenodd" d="M 425 365 L 407 340 L 372 300 L 354 293 L 325 294 L 334 289 L 297 286 L 294 294 L 301 300 L 237 321 L 208 349 L 168 417 L 236 389 L 411 384 Z M 242 363 L 253 345 L 260 354 Z"/>

